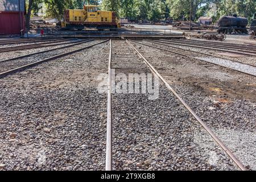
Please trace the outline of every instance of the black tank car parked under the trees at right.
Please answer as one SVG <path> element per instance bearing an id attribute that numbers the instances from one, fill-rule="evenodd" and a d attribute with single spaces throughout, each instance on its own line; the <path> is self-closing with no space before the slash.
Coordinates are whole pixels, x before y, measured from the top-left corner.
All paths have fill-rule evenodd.
<path id="1" fill-rule="evenodd" d="M 231 34 L 232 32 L 238 34 L 248 34 L 246 26 L 248 25 L 247 18 L 233 16 L 222 16 L 218 20 L 218 34 Z"/>

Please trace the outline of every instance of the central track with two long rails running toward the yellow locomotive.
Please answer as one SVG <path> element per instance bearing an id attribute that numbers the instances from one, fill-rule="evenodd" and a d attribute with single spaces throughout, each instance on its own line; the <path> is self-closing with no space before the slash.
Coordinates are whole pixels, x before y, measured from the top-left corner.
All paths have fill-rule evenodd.
<path id="1" fill-rule="evenodd" d="M 133 44 L 131 44 L 131 41 L 129 40 L 126 40 L 126 43 L 127 43 L 127 46 L 130 47 L 130 50 L 131 51 L 134 51 L 135 54 L 143 60 L 143 63 L 144 63 L 144 67 L 146 67 L 147 69 L 149 68 L 150 71 L 152 72 L 153 75 L 155 75 L 155 77 L 158 77 L 163 83 L 164 85 L 166 86 L 166 88 L 169 90 L 169 92 L 171 91 L 172 94 L 174 94 L 174 96 L 177 98 L 177 100 L 179 100 L 179 103 L 182 104 L 188 111 L 189 113 L 193 116 L 193 118 L 196 119 L 196 121 L 201 125 L 201 127 L 203 127 L 203 129 L 205 131 L 207 131 L 207 133 L 210 135 L 210 137 L 212 137 L 212 139 L 222 148 L 222 150 L 224 152 L 226 152 L 226 154 L 229 156 L 230 159 L 233 160 L 234 163 L 237 164 L 238 168 L 240 168 L 241 170 L 246 170 L 246 168 L 243 166 L 243 164 L 240 162 L 240 160 L 238 160 L 236 158 L 236 156 L 234 156 L 233 152 L 229 150 L 228 147 L 225 146 L 225 144 L 217 137 L 216 134 L 213 133 L 212 130 L 210 130 L 210 128 L 200 119 L 199 116 L 197 116 L 195 114 L 195 111 L 193 111 L 191 109 L 191 107 L 189 107 L 185 101 L 179 96 L 179 94 L 177 94 L 175 92 L 175 90 L 168 84 L 168 82 L 166 80 L 164 80 L 164 78 L 158 73 L 158 71 L 156 71 L 156 69 L 154 67 L 152 67 L 152 65 L 149 63 L 148 60 L 146 60 L 144 58 L 144 56 L 142 55 L 141 52 L 138 51 L 138 49 L 136 49 Z M 134 43 L 137 43 L 137 42 L 134 42 Z M 116 46 L 118 48 L 122 48 L 123 47 L 121 45 L 118 45 Z M 126 47 L 127 48 L 127 47 Z M 113 110 L 112 108 L 114 107 L 114 100 L 117 100 L 118 96 L 115 96 L 113 93 L 112 93 L 112 90 L 114 90 L 113 88 L 113 78 L 112 76 L 114 75 L 112 69 L 115 68 L 115 69 L 118 69 L 118 72 L 122 73 L 122 71 L 127 71 L 127 69 L 131 69 L 131 68 L 127 68 L 126 67 L 126 63 L 130 64 L 130 61 L 127 61 L 127 62 L 123 62 L 122 63 L 119 63 L 119 67 L 117 65 L 117 63 L 113 63 L 113 60 L 117 60 L 117 59 L 120 59 L 120 57 L 123 57 L 123 55 L 119 54 L 118 56 L 118 53 L 119 51 L 113 53 L 114 49 L 112 47 L 112 42 L 110 40 L 110 54 L 109 54 L 109 75 L 108 75 L 108 113 L 107 113 L 107 135 L 106 135 L 106 170 L 107 171 L 111 171 L 113 169 L 113 148 L 115 147 L 114 144 L 113 144 L 113 133 L 115 132 L 116 135 L 118 134 L 118 131 L 112 131 L 113 129 L 117 129 L 117 130 L 120 130 L 120 127 L 119 126 L 119 123 L 120 121 L 115 121 L 113 119 L 113 115 L 117 115 L 117 113 L 113 114 L 113 112 L 116 112 L 115 109 Z M 127 51 L 126 51 L 127 52 Z M 127 57 L 129 57 L 129 59 L 133 62 L 135 61 L 133 55 L 134 55 L 134 52 L 131 53 L 131 52 L 128 52 L 126 55 Z M 137 57 L 137 60 L 138 60 L 138 57 Z M 138 63 L 138 61 L 137 61 Z M 114 64 L 114 66 L 113 66 Z M 131 64 L 133 65 L 133 71 L 135 69 L 139 69 L 138 68 L 138 65 L 137 64 Z M 144 69 L 146 69 L 144 68 Z M 143 72 L 146 72 L 144 69 L 139 69 L 140 71 L 143 71 Z M 114 96 L 114 100 L 113 100 L 113 96 Z M 126 95 L 127 96 L 127 95 Z M 117 97 L 117 98 L 115 98 Z M 125 97 L 125 96 L 123 96 Z M 129 96 L 127 96 L 129 97 Z M 166 96 L 167 97 L 167 96 Z M 130 100 L 128 98 L 128 100 Z M 131 101 L 132 102 L 132 101 Z M 130 102 L 129 102 L 130 103 Z M 138 101 L 137 102 L 138 104 L 141 104 L 141 101 Z M 121 107 L 121 106 L 118 106 L 118 108 Z M 129 106 L 127 106 L 129 107 Z M 133 105 L 132 108 L 137 108 L 138 106 L 136 105 Z M 124 110 L 125 108 L 122 108 L 122 110 Z M 169 108 L 170 109 L 170 108 Z M 131 112 L 131 111 L 130 111 Z M 131 112 L 133 113 L 133 112 Z M 134 115 L 134 114 L 133 114 Z M 159 116 L 160 117 L 160 116 Z M 114 120 L 114 122 L 113 122 Z M 140 121 L 142 122 L 142 121 Z M 121 122 L 123 125 L 125 125 L 125 122 Z M 142 122 L 143 123 L 143 122 Z M 115 127 L 113 125 L 116 125 Z M 148 123 L 148 125 L 150 125 L 150 123 Z M 121 127 L 128 127 L 128 126 L 122 126 L 120 125 Z M 131 127 L 133 127 L 134 125 L 131 124 Z M 143 127 L 143 125 L 141 124 L 141 126 Z M 132 129 L 131 129 L 132 130 Z M 123 132 L 121 132 L 121 134 L 123 134 Z M 118 136 L 118 137 L 121 137 L 121 136 Z M 123 136 L 122 136 L 123 137 Z M 116 138 L 115 138 L 116 139 Z M 115 141 L 117 142 L 117 141 Z M 168 141 L 166 141 L 168 142 Z M 130 148 L 131 150 L 131 148 Z M 124 154 L 125 155 L 125 154 Z M 122 155 L 123 156 L 123 155 Z M 141 164 L 138 164 L 138 165 L 141 165 Z"/>

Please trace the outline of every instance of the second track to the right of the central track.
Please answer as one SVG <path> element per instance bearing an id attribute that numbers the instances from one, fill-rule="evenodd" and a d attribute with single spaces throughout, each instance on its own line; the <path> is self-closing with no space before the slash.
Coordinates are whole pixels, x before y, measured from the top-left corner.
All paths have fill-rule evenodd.
<path id="1" fill-rule="evenodd" d="M 220 45 L 210 45 L 207 43 L 193 43 L 193 42 L 185 42 L 183 40 L 166 40 L 166 39 L 160 39 L 164 40 L 166 42 L 175 42 L 175 43 L 183 43 L 183 44 L 188 44 L 188 45 L 195 45 L 195 46 L 207 46 L 207 47 L 212 47 L 212 48 L 221 48 L 221 49 L 229 49 L 233 51 L 242 51 L 242 52 L 248 52 L 248 53 L 253 53 L 252 51 L 256 51 L 256 49 L 250 49 L 250 48 L 238 48 L 238 47 L 232 47 L 232 46 L 220 46 Z M 251 50 L 251 51 L 246 51 L 246 50 Z"/>

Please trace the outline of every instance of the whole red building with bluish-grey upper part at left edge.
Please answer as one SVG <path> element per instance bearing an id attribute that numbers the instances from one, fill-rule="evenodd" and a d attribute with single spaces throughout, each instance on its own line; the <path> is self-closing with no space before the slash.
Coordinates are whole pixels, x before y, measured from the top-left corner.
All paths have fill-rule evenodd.
<path id="1" fill-rule="evenodd" d="M 20 35 L 25 30 L 25 0 L 0 0 L 0 35 Z"/>

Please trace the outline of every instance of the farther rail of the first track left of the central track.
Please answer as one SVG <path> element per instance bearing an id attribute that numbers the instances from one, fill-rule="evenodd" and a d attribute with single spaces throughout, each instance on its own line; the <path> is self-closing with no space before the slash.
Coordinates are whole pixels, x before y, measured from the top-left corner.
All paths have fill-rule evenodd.
<path id="1" fill-rule="evenodd" d="M 10 59 L 6 59 L 6 60 L 2 60 L 0 61 L 0 63 L 3 63 L 3 62 L 6 62 L 6 61 L 11 61 L 11 60 L 16 60 L 16 59 L 22 59 L 24 57 L 29 57 L 29 56 L 32 56 L 32 55 L 37 55 L 39 53 L 45 53 L 45 52 L 49 52 L 49 51 L 55 51 L 57 49 L 61 49 L 61 48 L 67 48 L 67 47 L 72 47 L 72 46 L 76 46 L 76 45 L 79 45 L 79 44 L 82 44 L 82 43 L 86 43 L 86 42 L 90 42 L 92 41 L 93 39 L 87 39 L 87 40 L 79 40 L 77 42 L 70 42 L 70 43 L 64 43 L 64 44 L 71 44 L 71 45 L 68 45 L 68 46 L 63 46 L 63 47 L 57 47 L 57 48 L 53 48 L 53 49 L 48 49 L 46 51 L 40 51 L 40 52 L 35 52 L 35 53 L 30 53 L 28 55 L 23 55 L 23 56 L 18 56 L 18 57 L 12 57 Z M 58 44 L 58 45 L 62 45 L 63 43 L 61 44 Z M 57 46 L 58 46 L 57 45 Z"/>

